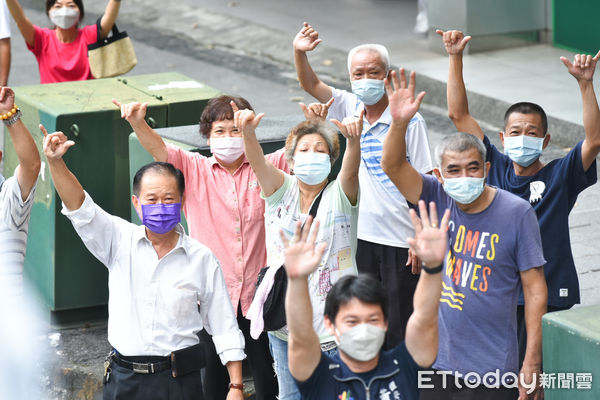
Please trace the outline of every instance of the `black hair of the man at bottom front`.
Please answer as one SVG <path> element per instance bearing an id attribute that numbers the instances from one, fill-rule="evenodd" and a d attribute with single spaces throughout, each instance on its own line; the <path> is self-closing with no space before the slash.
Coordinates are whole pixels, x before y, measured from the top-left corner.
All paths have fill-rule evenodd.
<path id="1" fill-rule="evenodd" d="M 340 278 L 327 294 L 325 316 L 333 323 L 340 307 L 354 298 L 363 303 L 381 306 L 383 318 L 387 321 L 388 298 L 383 285 L 368 274 L 346 275 Z"/>

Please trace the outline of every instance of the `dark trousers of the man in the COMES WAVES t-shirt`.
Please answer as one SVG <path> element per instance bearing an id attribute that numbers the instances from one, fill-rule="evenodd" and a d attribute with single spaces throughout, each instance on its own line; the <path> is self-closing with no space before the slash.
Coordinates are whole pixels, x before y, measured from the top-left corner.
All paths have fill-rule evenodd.
<path id="1" fill-rule="evenodd" d="M 445 385 L 441 375 L 427 375 L 427 378 L 431 381 L 424 383 L 433 385 L 433 388 L 419 389 L 420 400 L 515 400 L 519 397 L 517 388 L 488 388 L 485 385 L 470 388 L 462 379 L 458 380 L 457 385 L 453 375 L 446 376 Z"/>

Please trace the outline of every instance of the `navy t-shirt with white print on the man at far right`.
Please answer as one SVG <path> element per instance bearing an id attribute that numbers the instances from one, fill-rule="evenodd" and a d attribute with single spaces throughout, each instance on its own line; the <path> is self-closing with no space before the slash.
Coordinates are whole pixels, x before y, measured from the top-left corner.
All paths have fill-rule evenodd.
<path id="1" fill-rule="evenodd" d="M 517 176 L 512 160 L 492 145 L 487 137 L 483 142 L 491 163 L 488 183 L 526 200 L 537 214 L 547 260 L 544 274 L 548 285 L 548 304 L 570 307 L 579 303 L 569 213 L 579 193 L 598 180 L 596 161 L 587 171 L 583 170 L 583 142 L 579 142 L 566 156 L 552 160 L 535 175 Z M 520 304 L 523 304 L 522 298 Z"/>

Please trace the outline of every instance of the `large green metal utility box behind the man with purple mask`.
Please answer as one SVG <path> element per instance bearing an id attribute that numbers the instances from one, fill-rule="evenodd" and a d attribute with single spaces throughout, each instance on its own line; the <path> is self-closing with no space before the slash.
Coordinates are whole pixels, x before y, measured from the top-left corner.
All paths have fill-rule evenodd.
<path id="1" fill-rule="evenodd" d="M 218 94 L 178 73 L 25 86 L 15 92 L 22 120 L 40 152 L 40 123 L 48 132 L 63 131 L 75 141 L 65 156 L 69 169 L 97 204 L 128 220 L 131 127 L 112 98 L 147 102 L 148 123 L 163 128 L 196 123 L 208 99 Z M 18 160 L 8 132 L 4 143 L 5 176 L 11 176 Z M 105 316 L 106 268 L 85 249 L 61 207 L 43 163 L 29 224 L 25 276 L 56 323 Z"/>

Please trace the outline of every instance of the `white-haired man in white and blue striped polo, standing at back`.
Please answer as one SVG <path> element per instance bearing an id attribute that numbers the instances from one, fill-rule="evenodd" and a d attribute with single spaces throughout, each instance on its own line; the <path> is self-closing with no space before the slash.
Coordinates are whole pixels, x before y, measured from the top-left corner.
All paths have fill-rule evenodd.
<path id="1" fill-rule="evenodd" d="M 383 283 L 386 295 L 394 299 L 390 303 L 385 343 L 385 348 L 390 349 L 404 339 L 420 271 L 419 261 L 406 241 L 414 236 L 408 205 L 380 166 L 383 141 L 392 123 L 383 87 L 390 71 L 390 57 L 380 44 L 363 44 L 350 50 L 350 93 L 325 84 L 311 68 L 306 53 L 320 42 L 318 32 L 304 23 L 293 43 L 296 72 L 302 88 L 319 102 L 325 103 L 333 97 L 330 118 L 342 120 L 358 116 L 364 110 L 356 263 L 359 272 L 374 275 Z M 406 142 L 406 157 L 411 165 L 419 172 L 430 172 L 427 126 L 419 113 L 410 121 Z"/>

